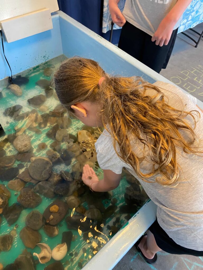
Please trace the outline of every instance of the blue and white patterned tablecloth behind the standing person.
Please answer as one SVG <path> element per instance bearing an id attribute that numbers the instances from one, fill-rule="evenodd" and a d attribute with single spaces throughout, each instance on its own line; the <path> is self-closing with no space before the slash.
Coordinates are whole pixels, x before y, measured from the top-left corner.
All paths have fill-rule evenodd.
<path id="1" fill-rule="evenodd" d="M 104 0 L 102 32 L 106 33 L 111 29 L 111 15 L 109 12 L 109 1 Z M 120 0 L 119 8 L 121 12 L 124 9 L 125 0 Z M 183 19 L 178 29 L 178 33 L 193 28 L 195 25 L 203 22 L 203 0 L 193 0 L 183 14 Z M 120 27 L 114 24 L 113 29 Z"/>

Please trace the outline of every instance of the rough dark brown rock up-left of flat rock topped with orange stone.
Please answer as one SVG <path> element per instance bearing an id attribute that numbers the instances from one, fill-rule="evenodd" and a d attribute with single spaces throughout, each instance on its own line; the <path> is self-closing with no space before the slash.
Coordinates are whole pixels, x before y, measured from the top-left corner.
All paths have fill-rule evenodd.
<path id="1" fill-rule="evenodd" d="M 40 195 L 34 193 L 32 190 L 21 190 L 21 194 L 18 196 L 17 201 L 25 208 L 35 208 L 42 201 Z"/>

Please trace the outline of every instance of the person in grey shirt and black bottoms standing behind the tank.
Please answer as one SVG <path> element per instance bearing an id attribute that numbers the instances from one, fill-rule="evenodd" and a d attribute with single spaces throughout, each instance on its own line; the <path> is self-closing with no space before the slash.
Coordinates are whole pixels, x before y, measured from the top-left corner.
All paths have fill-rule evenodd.
<path id="1" fill-rule="evenodd" d="M 122 26 L 118 47 L 160 72 L 170 59 L 182 14 L 192 0 L 109 0 L 112 21 Z"/>

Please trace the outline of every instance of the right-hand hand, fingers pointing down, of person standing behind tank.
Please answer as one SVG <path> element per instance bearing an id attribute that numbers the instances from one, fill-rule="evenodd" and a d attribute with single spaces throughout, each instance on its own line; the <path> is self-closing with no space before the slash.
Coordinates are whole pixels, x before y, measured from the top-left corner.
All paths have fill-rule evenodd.
<path id="1" fill-rule="evenodd" d="M 152 42 L 156 40 L 156 45 L 162 47 L 163 45 L 168 45 L 173 32 L 174 23 L 168 21 L 164 18 L 159 24 L 156 32 L 152 37 Z"/>

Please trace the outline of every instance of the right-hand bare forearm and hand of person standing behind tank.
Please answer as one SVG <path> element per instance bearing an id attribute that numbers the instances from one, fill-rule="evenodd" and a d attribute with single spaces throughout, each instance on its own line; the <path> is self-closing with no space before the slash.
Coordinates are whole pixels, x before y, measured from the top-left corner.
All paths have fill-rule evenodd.
<path id="1" fill-rule="evenodd" d="M 163 18 L 152 36 L 152 41 L 156 40 L 156 45 L 163 46 L 168 44 L 175 24 L 191 2 L 192 0 L 178 0 L 171 11 Z"/>

